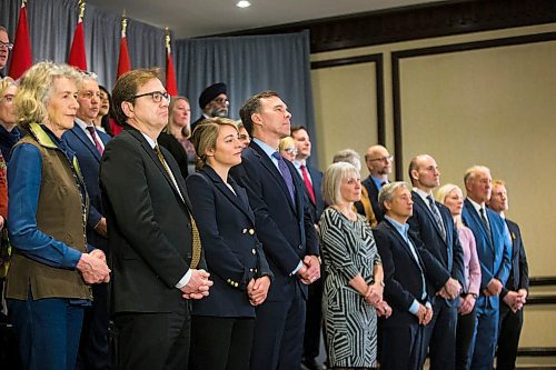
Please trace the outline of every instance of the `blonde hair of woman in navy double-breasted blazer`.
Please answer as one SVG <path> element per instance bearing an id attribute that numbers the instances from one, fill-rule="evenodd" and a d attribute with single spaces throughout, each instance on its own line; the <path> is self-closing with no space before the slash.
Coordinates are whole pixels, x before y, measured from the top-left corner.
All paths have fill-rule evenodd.
<path id="1" fill-rule="evenodd" d="M 203 120 L 195 128 L 190 140 L 197 153 L 195 160 L 195 169 L 197 171 L 207 164 L 207 150 L 216 149 L 216 141 L 222 126 L 230 126 L 236 132 L 238 131 L 236 121 L 224 117 L 214 117 Z"/>

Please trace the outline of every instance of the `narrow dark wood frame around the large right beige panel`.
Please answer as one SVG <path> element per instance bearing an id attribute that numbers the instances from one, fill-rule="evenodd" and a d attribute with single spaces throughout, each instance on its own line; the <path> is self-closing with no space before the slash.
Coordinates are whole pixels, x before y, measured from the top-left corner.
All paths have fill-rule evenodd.
<path id="1" fill-rule="evenodd" d="M 556 2 L 555 2 L 556 3 Z M 403 134 L 401 134 L 401 87 L 399 80 L 399 61 L 405 58 L 434 56 L 448 52 L 469 51 L 487 48 L 499 48 L 508 46 L 517 46 L 525 43 L 536 43 L 555 41 L 556 32 L 546 32 L 528 36 L 519 36 L 512 38 L 492 39 L 484 41 L 464 42 L 455 44 L 446 44 L 431 48 L 408 49 L 394 51 L 391 53 L 391 80 L 393 80 L 393 109 L 394 109 L 394 151 L 396 164 L 396 179 L 404 178 L 404 158 L 403 158 Z"/>

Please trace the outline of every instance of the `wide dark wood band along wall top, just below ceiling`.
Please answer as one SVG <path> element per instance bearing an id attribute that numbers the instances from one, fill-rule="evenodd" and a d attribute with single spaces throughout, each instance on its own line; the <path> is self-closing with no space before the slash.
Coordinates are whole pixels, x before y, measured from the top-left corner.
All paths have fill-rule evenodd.
<path id="1" fill-rule="evenodd" d="M 310 31 L 312 53 L 556 22 L 553 0 L 450 0 L 220 33 Z"/>

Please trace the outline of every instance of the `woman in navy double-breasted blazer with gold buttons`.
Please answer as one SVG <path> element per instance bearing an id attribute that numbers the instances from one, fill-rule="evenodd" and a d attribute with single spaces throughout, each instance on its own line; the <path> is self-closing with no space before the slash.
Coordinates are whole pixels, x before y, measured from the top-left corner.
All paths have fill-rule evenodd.
<path id="1" fill-rule="evenodd" d="M 255 307 L 265 301 L 272 273 L 247 192 L 228 174 L 241 162 L 242 146 L 227 118 L 202 121 L 191 141 L 197 173 L 187 178 L 187 190 L 215 284 L 210 296 L 193 302 L 190 363 L 192 369 L 247 370 Z"/>

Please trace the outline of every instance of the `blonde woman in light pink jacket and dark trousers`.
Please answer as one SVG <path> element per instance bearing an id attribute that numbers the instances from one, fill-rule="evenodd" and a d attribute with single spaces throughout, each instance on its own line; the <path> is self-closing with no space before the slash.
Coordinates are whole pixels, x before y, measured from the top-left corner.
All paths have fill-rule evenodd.
<path id="1" fill-rule="evenodd" d="M 465 284 L 459 297 L 459 314 L 456 328 L 456 369 L 469 369 L 468 353 L 477 320 L 475 301 L 480 289 L 480 264 L 473 231 L 461 221 L 461 209 L 464 208 L 461 189 L 453 183 L 447 183 L 437 190 L 436 200 L 446 206 L 454 217 L 459 242 L 464 249 Z"/>

